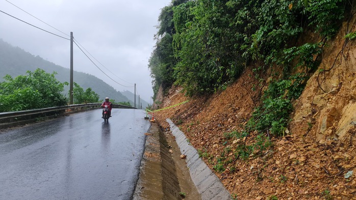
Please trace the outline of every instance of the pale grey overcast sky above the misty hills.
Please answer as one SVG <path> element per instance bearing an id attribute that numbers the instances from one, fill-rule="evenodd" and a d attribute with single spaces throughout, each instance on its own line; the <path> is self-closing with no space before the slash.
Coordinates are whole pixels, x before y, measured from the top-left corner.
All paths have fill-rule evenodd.
<path id="1" fill-rule="evenodd" d="M 110 80 L 73 44 L 75 71 L 92 74 L 117 91 L 128 90 L 134 93 L 133 86 L 136 83 L 137 94 L 152 103 L 148 59 L 156 43 L 154 35 L 157 33 L 158 16 L 161 9 L 170 2 L 171 0 L 0 0 L 0 10 L 67 39 L 70 39 L 70 32 L 73 32 L 74 40 L 94 57 L 86 52 L 91 60 L 119 84 Z M 69 40 L 41 31 L 2 12 L 0 38 L 49 62 L 70 68 Z"/>

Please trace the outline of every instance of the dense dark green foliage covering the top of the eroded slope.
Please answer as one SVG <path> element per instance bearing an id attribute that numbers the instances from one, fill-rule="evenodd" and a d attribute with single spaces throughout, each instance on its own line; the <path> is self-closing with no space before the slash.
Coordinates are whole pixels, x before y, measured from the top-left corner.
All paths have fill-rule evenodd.
<path id="1" fill-rule="evenodd" d="M 172 1 L 162 9 L 149 68 L 155 93 L 173 82 L 187 94 L 212 93 L 252 61 L 283 66 L 284 50 L 301 33 L 332 37 L 345 13 L 342 0 Z M 311 55 L 313 52 L 304 52 Z"/>

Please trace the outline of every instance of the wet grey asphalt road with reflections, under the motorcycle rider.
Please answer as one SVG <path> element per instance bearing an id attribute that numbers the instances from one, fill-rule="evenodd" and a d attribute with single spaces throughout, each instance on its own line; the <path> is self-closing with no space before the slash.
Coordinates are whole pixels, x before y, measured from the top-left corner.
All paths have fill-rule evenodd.
<path id="1" fill-rule="evenodd" d="M 0 132 L 0 199 L 131 199 L 150 123 L 101 109 Z"/>

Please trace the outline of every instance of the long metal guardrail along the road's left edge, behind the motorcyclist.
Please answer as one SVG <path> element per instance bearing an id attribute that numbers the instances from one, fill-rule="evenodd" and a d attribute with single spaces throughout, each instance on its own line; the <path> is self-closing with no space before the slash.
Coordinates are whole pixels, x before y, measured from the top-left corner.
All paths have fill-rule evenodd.
<path id="1" fill-rule="evenodd" d="M 68 115 L 73 112 L 100 108 L 101 103 L 74 104 L 58 107 L 48 107 L 32 110 L 21 110 L 11 112 L 0 112 L 0 128 L 17 126 L 29 122 L 40 121 L 40 119 L 55 118 Z M 137 109 L 135 107 L 113 104 L 113 108 Z"/>

